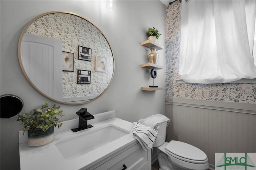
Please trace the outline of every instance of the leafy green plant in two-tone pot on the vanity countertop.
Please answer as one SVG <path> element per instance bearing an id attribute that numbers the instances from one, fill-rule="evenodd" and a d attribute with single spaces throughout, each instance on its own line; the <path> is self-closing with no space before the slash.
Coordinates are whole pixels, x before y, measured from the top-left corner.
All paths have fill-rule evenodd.
<path id="1" fill-rule="evenodd" d="M 54 127 L 60 128 L 63 123 L 59 121 L 57 116 L 64 116 L 60 111 L 60 106 L 48 106 L 48 103 L 42 105 L 41 108 L 33 109 L 34 113 L 22 113 L 18 115 L 17 121 L 22 121 L 23 130 L 28 131 L 28 145 L 41 146 L 51 142 L 54 139 Z"/>

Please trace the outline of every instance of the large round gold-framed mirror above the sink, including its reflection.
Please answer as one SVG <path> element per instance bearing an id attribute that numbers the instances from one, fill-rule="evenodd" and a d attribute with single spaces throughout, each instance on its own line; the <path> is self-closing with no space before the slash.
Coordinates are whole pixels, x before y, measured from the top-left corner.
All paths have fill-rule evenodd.
<path id="1" fill-rule="evenodd" d="M 114 55 L 104 34 L 71 12 L 47 12 L 31 20 L 20 35 L 18 58 L 30 84 L 58 103 L 93 101 L 114 75 Z"/>

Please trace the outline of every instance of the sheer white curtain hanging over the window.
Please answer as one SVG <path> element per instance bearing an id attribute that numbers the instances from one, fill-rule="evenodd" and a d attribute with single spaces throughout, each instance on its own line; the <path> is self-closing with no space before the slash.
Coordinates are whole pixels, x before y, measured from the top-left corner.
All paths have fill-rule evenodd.
<path id="1" fill-rule="evenodd" d="M 180 79 L 210 84 L 256 78 L 255 9 L 255 0 L 182 1 Z"/>

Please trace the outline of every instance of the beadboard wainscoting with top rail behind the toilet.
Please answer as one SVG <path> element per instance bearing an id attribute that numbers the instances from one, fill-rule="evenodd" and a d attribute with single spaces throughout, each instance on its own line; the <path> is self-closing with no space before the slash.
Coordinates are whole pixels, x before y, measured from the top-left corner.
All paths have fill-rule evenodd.
<path id="1" fill-rule="evenodd" d="M 167 140 L 203 150 L 209 164 L 217 152 L 256 152 L 256 103 L 165 98 Z"/>

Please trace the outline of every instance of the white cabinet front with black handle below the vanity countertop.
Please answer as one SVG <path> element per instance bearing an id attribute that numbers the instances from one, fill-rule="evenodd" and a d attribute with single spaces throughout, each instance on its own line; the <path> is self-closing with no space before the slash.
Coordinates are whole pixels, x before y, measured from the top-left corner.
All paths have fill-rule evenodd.
<path id="1" fill-rule="evenodd" d="M 150 150 L 144 150 L 136 141 L 88 170 L 148 170 L 151 168 L 149 154 Z"/>

